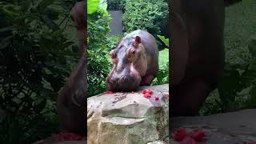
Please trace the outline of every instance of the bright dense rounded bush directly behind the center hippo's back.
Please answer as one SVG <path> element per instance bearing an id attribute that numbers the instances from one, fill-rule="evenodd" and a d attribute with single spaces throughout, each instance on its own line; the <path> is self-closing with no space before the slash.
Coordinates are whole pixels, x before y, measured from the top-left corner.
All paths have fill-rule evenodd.
<path id="1" fill-rule="evenodd" d="M 134 30 L 146 30 L 157 38 L 162 34 L 162 25 L 166 25 L 168 17 L 168 3 L 165 0 L 126 0 L 123 14 L 124 30 L 128 33 Z M 158 48 L 162 48 L 158 41 Z"/>

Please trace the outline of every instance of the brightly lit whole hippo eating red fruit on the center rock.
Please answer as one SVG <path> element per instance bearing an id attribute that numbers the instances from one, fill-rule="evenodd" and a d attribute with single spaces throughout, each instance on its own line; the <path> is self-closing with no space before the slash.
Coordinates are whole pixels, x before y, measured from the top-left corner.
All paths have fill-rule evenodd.
<path id="1" fill-rule="evenodd" d="M 158 47 L 154 36 L 135 30 L 110 51 L 113 68 L 106 77 L 110 91 L 132 91 L 150 86 L 158 74 Z"/>

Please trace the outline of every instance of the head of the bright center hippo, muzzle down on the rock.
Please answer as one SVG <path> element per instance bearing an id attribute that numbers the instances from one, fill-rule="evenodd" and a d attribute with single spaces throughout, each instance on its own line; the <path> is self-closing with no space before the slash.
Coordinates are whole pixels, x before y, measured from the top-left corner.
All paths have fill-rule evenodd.
<path id="1" fill-rule="evenodd" d="M 146 51 L 139 36 L 122 38 L 110 51 L 113 68 L 106 78 L 106 87 L 111 91 L 138 89 L 142 76 L 146 74 Z"/>

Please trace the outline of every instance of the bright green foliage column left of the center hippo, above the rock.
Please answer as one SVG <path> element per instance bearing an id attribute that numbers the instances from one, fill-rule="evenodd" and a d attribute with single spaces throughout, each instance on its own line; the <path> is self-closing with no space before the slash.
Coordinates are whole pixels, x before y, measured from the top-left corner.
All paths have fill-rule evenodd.
<path id="1" fill-rule="evenodd" d="M 109 58 L 110 39 L 106 34 L 110 31 L 110 15 L 106 11 L 106 1 L 98 3 L 98 10 L 87 15 L 87 83 L 88 96 L 106 90 L 105 78 L 110 71 Z"/>

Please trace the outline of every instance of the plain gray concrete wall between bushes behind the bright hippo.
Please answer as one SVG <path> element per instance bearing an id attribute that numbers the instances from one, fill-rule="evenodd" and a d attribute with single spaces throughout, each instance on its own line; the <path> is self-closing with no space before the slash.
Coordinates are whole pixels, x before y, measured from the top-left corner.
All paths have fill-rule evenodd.
<path id="1" fill-rule="evenodd" d="M 109 35 L 122 34 L 122 11 L 121 10 L 109 10 L 112 21 L 110 22 Z"/>

